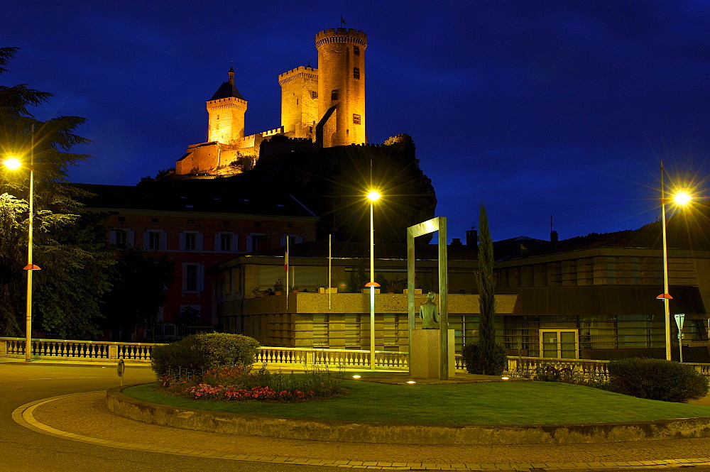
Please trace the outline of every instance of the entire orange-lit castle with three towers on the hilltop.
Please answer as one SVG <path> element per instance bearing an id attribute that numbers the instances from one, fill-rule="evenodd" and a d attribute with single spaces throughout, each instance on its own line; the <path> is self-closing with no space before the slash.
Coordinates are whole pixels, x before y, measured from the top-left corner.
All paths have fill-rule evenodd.
<path id="1" fill-rule="evenodd" d="M 187 146 L 175 173 L 240 172 L 244 160 L 256 162 L 262 141 L 277 135 L 325 148 L 367 143 L 367 35 L 346 28 L 320 31 L 315 47 L 317 69 L 300 66 L 278 76 L 281 126 L 262 133 L 244 136 L 247 101 L 236 89 L 234 69 L 230 69 L 229 80 L 207 101 L 207 142 Z"/>

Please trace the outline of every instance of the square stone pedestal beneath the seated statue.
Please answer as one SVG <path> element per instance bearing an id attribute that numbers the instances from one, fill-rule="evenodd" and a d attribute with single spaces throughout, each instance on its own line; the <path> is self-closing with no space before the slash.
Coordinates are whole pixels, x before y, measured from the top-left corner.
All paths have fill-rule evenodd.
<path id="1" fill-rule="evenodd" d="M 454 377 L 454 330 L 448 330 L 449 339 L 449 378 Z M 438 329 L 413 329 L 412 352 L 409 355 L 409 373 L 413 378 L 431 378 L 441 380 L 441 334 Z"/>

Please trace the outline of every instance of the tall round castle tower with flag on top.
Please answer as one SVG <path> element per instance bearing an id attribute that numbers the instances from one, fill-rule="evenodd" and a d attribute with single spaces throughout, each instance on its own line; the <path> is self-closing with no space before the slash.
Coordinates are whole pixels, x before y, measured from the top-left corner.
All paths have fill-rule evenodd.
<path id="1" fill-rule="evenodd" d="M 367 35 L 346 28 L 320 31 L 318 50 L 318 116 L 323 146 L 367 142 L 365 133 L 365 49 Z"/>

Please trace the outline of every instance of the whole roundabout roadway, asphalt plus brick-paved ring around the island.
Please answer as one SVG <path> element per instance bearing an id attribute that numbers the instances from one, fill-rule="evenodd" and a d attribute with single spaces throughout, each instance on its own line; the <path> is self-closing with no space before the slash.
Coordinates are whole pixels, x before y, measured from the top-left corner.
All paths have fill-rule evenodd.
<path id="1" fill-rule="evenodd" d="M 153 375 L 148 368 L 129 367 L 126 371 L 126 383 L 151 380 Z M 337 459 L 344 462 L 343 466 L 367 468 L 394 468 L 395 464 L 406 464 L 405 470 L 515 470 L 517 466 L 518 470 L 525 471 L 646 471 L 656 463 L 657 467 L 710 471 L 710 439 L 566 446 L 405 446 L 234 437 L 156 427 L 111 415 L 102 404 L 102 395 L 88 393 L 118 384 L 113 366 L 0 363 L 0 472 L 342 470 L 332 466 L 288 463 L 318 459 Z M 82 394 L 40 405 L 35 419 L 61 431 L 82 434 L 86 439 L 99 438 L 99 441 L 114 441 L 114 444 L 123 441 L 129 443 L 129 447 L 119 449 L 96 444 L 96 441 L 71 441 L 35 432 L 11 419 L 13 410 L 21 405 L 72 393 Z M 183 454 L 140 450 L 146 444 L 165 449 L 182 448 Z M 234 456 L 232 460 L 197 457 L 200 451 L 239 457 L 249 454 L 251 460 L 234 460 Z"/>

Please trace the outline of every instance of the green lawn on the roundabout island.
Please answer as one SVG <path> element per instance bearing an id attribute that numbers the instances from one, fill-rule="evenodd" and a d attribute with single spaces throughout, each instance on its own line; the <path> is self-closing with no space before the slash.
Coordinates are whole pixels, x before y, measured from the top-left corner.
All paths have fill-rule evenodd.
<path id="1" fill-rule="evenodd" d="M 388 385 L 344 380 L 343 387 L 348 395 L 303 403 L 189 400 L 161 393 L 155 384 L 123 393 L 173 407 L 398 424 L 583 424 L 710 416 L 710 407 L 643 400 L 566 383 Z"/>

